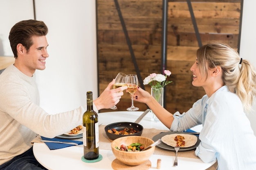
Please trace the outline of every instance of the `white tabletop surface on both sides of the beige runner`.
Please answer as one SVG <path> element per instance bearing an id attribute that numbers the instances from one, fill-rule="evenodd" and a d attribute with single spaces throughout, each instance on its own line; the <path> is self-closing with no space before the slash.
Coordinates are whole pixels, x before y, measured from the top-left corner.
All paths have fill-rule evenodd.
<path id="1" fill-rule="evenodd" d="M 135 120 L 143 113 L 142 111 L 117 111 L 99 113 L 99 123 L 107 125 L 114 122 L 135 122 Z M 168 130 L 161 122 L 152 122 L 148 113 L 139 122 L 144 128 Z M 200 129 L 200 128 L 198 128 Z M 34 143 L 34 155 L 36 159 L 49 170 L 70 170 L 70 169 L 88 169 L 88 170 L 108 170 L 112 169 L 111 163 L 115 160 L 111 150 L 99 150 L 103 159 L 97 163 L 85 163 L 81 161 L 83 156 L 83 145 L 71 146 L 67 148 L 49 150 L 44 143 Z M 212 166 L 215 161 L 211 163 L 203 163 L 201 159 L 178 157 L 178 166 L 173 167 L 175 157 L 166 155 L 152 155 L 150 157 L 151 168 L 156 169 L 157 159 L 162 159 L 162 170 L 175 169 L 175 170 L 205 170 Z M 136 169 L 136 168 L 135 168 Z"/>

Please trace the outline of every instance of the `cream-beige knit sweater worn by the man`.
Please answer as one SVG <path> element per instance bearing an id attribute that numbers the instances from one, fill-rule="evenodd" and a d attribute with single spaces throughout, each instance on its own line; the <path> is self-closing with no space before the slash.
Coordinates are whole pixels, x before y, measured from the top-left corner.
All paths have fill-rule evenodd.
<path id="1" fill-rule="evenodd" d="M 46 113 L 39 106 L 35 76 L 10 65 L 0 74 L 0 165 L 31 148 L 36 134 L 53 138 L 80 125 L 85 111 L 86 104 L 72 111 Z"/>

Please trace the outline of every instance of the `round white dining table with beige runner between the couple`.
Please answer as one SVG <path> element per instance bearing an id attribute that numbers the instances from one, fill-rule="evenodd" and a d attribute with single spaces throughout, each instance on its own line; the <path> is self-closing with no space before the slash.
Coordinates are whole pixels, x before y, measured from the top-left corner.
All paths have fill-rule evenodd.
<path id="1" fill-rule="evenodd" d="M 105 126 L 115 122 L 135 122 L 135 120 L 143 113 L 143 111 L 113 111 L 99 113 L 99 153 L 103 159 L 95 163 L 85 163 L 81 160 L 83 156 L 83 145 L 70 146 L 66 148 L 50 150 L 45 143 L 40 142 L 40 136 L 36 137 L 32 141 L 34 155 L 36 159 L 49 170 L 70 170 L 70 169 L 90 169 L 90 170 L 137 170 L 145 169 L 143 165 L 140 166 L 126 166 L 116 164 L 115 155 L 111 150 L 112 140 L 108 138 L 105 132 Z M 152 139 L 155 135 L 163 132 L 169 132 L 169 129 L 162 124 L 162 122 L 155 122 L 151 120 L 152 112 L 146 114 L 146 116 L 139 122 L 144 129 L 141 136 Z M 200 131 L 201 127 L 195 127 L 194 131 Z M 82 138 L 74 139 L 82 141 Z M 156 169 L 157 159 L 161 159 L 162 170 L 216 170 L 218 163 L 212 161 L 210 163 L 204 163 L 195 155 L 195 149 L 184 150 L 178 152 L 178 166 L 173 166 L 175 159 L 174 150 L 166 150 L 163 148 L 155 147 L 153 155 L 149 161 L 151 166 L 146 169 Z"/>

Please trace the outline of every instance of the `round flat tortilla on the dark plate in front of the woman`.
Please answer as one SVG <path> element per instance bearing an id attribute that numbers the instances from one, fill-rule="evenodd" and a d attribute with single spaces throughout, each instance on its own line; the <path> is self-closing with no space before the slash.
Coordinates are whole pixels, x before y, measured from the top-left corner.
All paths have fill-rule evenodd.
<path id="1" fill-rule="evenodd" d="M 184 139 L 182 140 L 185 143 L 184 143 L 184 146 L 180 146 L 181 148 L 188 148 L 188 147 L 194 146 L 198 140 L 198 138 L 195 135 L 189 135 L 189 134 L 183 134 L 183 133 L 182 134 L 174 133 L 174 134 L 164 135 L 161 139 L 162 139 L 162 142 L 164 142 L 165 144 L 176 147 L 177 141 L 175 141 L 175 137 L 179 138 L 178 136 L 181 136 L 181 138 L 184 137 Z"/>

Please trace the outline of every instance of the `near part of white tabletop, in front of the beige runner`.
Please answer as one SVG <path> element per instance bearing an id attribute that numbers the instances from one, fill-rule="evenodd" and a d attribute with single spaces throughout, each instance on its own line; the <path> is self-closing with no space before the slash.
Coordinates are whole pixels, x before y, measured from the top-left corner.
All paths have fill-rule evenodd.
<path id="1" fill-rule="evenodd" d="M 99 150 L 103 159 L 96 163 L 81 161 L 83 145 L 71 146 L 62 149 L 49 150 L 46 144 L 34 143 L 33 151 L 36 159 L 49 170 L 112 170 L 111 163 L 116 159 L 112 150 Z M 161 159 L 161 170 L 205 170 L 215 162 L 203 163 L 201 159 L 178 157 L 178 166 L 174 167 L 175 157 L 165 155 L 152 155 L 150 157 L 151 168 L 157 168 L 157 159 Z M 136 170 L 136 168 L 135 168 Z"/>

